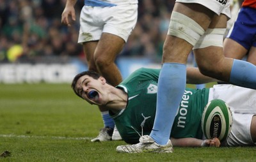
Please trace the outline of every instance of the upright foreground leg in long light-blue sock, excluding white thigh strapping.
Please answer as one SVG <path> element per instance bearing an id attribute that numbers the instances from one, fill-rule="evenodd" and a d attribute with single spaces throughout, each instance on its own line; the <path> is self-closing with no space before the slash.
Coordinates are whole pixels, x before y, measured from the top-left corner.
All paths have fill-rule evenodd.
<path id="1" fill-rule="evenodd" d="M 175 3 L 173 11 L 193 18 L 201 26 L 201 33 L 207 29 L 214 15 L 211 10 L 200 4 Z M 175 114 L 186 86 L 186 62 L 192 47 L 188 41 L 172 35 L 168 35 L 164 42 L 164 64 L 159 75 L 156 118 L 150 133 L 157 144 L 166 144 L 170 137 Z"/>

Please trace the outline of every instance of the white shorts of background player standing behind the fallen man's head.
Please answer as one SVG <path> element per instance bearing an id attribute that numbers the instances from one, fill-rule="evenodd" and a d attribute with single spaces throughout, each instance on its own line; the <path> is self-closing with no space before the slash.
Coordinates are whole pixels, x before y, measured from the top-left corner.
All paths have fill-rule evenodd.
<path id="1" fill-rule="evenodd" d="M 100 40 L 102 33 L 120 36 L 126 42 L 138 17 L 138 4 L 113 7 L 83 6 L 78 43 Z"/>

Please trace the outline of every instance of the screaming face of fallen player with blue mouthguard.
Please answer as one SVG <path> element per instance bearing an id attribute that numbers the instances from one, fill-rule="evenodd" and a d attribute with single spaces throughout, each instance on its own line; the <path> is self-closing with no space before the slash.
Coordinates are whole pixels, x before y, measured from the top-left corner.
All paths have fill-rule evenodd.
<path id="1" fill-rule="evenodd" d="M 104 104 L 102 100 L 104 84 L 106 84 L 106 80 L 103 77 L 94 79 L 84 75 L 77 80 L 76 91 L 88 103 L 102 105 Z"/>

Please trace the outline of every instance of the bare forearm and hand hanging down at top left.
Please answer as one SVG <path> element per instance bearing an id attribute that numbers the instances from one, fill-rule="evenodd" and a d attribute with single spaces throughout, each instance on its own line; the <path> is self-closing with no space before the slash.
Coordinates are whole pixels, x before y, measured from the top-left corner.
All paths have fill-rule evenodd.
<path id="1" fill-rule="evenodd" d="M 75 4 L 77 0 L 67 0 L 65 8 L 61 14 L 61 23 L 70 26 L 71 21 L 76 21 L 76 13 L 75 13 Z M 68 17 L 71 16 L 72 20 L 69 20 Z"/>

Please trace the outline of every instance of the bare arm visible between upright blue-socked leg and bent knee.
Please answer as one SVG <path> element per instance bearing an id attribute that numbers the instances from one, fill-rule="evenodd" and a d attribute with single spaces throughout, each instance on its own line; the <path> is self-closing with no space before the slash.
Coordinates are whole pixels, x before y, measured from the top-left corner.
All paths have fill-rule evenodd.
<path id="1" fill-rule="evenodd" d="M 207 77 L 205 75 L 202 75 L 198 68 L 187 68 L 187 84 L 206 84 L 209 82 L 218 82 L 219 80 L 216 80 L 211 77 Z"/>

